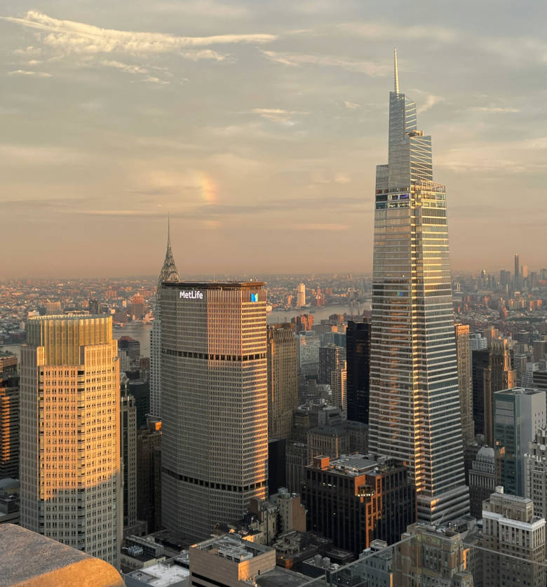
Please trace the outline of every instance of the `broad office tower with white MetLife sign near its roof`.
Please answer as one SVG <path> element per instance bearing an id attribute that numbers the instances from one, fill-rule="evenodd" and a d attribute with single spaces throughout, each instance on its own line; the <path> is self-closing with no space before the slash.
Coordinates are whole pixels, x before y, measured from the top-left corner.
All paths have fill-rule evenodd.
<path id="1" fill-rule="evenodd" d="M 192 539 L 266 497 L 263 285 L 161 286 L 162 519 Z"/>

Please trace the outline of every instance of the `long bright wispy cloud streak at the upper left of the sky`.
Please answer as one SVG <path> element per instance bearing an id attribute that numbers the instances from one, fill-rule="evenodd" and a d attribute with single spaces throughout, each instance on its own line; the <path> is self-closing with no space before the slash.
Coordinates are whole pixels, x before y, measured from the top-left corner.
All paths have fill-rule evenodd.
<path id="1" fill-rule="evenodd" d="M 41 33 L 41 40 L 64 54 L 126 53 L 146 55 L 179 52 L 191 58 L 215 58 L 213 53 L 193 53 L 192 49 L 231 43 L 269 43 L 274 34 L 220 34 L 214 36 L 177 36 L 159 32 L 135 32 L 103 29 L 74 20 L 59 20 L 37 11 L 28 11 L 23 18 L 4 16 L 13 22 Z M 190 53 L 189 53 L 190 50 Z"/>

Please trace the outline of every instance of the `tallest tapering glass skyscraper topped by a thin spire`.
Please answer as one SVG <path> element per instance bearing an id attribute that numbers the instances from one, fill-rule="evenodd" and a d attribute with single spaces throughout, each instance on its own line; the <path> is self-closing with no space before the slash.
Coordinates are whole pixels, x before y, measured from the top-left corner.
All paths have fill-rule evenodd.
<path id="1" fill-rule="evenodd" d="M 461 440 L 445 186 L 416 104 L 389 94 L 389 156 L 376 168 L 370 447 L 407 461 L 418 518 L 469 511 Z"/>

